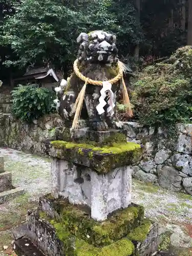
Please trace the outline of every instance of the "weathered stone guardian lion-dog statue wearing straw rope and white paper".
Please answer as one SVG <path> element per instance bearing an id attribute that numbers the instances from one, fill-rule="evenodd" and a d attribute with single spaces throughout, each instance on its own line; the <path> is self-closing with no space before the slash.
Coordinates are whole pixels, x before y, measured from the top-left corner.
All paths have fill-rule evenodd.
<path id="1" fill-rule="evenodd" d="M 57 111 L 66 126 L 73 129 L 77 128 L 80 117 L 88 121 L 91 130 L 116 129 L 120 125 L 115 111 L 116 95 L 123 76 L 122 63 L 117 57 L 116 36 L 94 31 L 81 33 L 77 42 L 80 46 L 74 72 L 68 81 L 62 80 L 60 87 L 55 89 Z M 126 91 L 127 97 L 129 100 Z M 132 115 L 130 103 L 127 104 Z"/>

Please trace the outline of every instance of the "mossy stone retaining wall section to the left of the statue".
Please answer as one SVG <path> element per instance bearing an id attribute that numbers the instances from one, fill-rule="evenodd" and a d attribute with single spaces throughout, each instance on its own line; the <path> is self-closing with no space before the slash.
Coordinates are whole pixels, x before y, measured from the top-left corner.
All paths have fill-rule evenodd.
<path id="1" fill-rule="evenodd" d="M 15 120 L 11 115 L 0 113 L 0 126 L 0 146 L 43 154 L 41 140 L 54 137 L 54 128 L 62 126 L 62 120 L 54 114 L 29 125 Z"/>

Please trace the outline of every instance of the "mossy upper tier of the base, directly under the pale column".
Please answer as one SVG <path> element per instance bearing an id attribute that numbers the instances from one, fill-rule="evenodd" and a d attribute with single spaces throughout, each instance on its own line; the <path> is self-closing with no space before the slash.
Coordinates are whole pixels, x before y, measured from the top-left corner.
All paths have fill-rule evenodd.
<path id="1" fill-rule="evenodd" d="M 104 222 L 93 220 L 88 207 L 72 205 L 68 200 L 54 199 L 50 195 L 41 197 L 39 205 L 41 217 L 49 215 L 58 235 L 70 233 L 96 247 L 124 238 L 140 225 L 144 217 L 144 208 L 136 204 L 113 212 Z"/>

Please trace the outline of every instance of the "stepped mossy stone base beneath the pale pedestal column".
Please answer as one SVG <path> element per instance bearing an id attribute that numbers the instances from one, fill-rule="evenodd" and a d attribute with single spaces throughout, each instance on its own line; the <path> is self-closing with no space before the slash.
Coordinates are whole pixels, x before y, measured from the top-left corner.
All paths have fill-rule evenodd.
<path id="1" fill-rule="evenodd" d="M 40 198 L 38 210 L 29 211 L 26 232 L 13 230 L 18 256 L 152 256 L 157 233 L 158 225 L 144 219 L 142 206 L 132 204 L 97 222 L 86 207 L 51 195 Z"/>

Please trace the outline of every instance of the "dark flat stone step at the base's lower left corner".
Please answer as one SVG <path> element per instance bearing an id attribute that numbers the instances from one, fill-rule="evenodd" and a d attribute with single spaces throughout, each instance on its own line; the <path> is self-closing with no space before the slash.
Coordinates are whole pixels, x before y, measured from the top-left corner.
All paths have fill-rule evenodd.
<path id="1" fill-rule="evenodd" d="M 14 241 L 13 249 L 17 256 L 45 256 L 27 237 Z"/>

